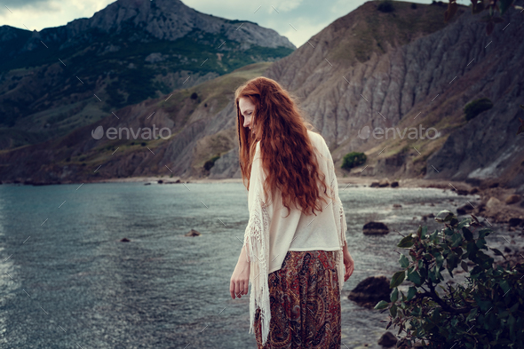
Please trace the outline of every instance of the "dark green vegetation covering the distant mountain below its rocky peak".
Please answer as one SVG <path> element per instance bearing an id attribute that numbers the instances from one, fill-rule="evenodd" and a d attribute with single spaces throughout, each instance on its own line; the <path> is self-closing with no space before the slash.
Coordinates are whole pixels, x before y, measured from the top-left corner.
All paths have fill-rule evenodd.
<path id="1" fill-rule="evenodd" d="M 27 42 L 26 31 L 19 31 L 13 47 Z M 65 135 L 125 106 L 293 52 L 256 45 L 245 50 L 223 37 L 195 29 L 167 41 L 129 27 L 118 35 L 91 29 L 67 45 L 60 37 L 47 48 L 36 41 L 33 51 L 0 60 L 0 127 L 28 131 L 31 125 L 35 132 L 40 126 L 44 138 L 48 130 L 53 137 Z"/>

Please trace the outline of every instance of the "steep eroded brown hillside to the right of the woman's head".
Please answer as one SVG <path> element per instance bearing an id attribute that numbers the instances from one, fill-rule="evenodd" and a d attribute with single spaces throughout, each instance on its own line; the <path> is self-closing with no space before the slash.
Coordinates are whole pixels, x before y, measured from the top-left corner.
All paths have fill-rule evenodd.
<path id="1" fill-rule="evenodd" d="M 444 25 L 446 7 L 437 3 L 393 4 L 386 13 L 362 4 L 266 74 L 301 99 L 338 167 L 358 151 L 368 162 L 356 175 L 486 182 L 524 193 L 524 137 L 516 135 L 524 116 L 520 12 L 504 13 L 487 36 L 482 14 L 470 8 L 459 6 Z M 468 122 L 464 106 L 481 98 L 493 107 Z M 358 137 L 378 127 L 395 131 L 388 139 Z M 426 137 L 422 127 L 435 129 L 432 139 L 409 139 L 413 129 Z M 397 128 L 407 130 L 403 139 Z"/>

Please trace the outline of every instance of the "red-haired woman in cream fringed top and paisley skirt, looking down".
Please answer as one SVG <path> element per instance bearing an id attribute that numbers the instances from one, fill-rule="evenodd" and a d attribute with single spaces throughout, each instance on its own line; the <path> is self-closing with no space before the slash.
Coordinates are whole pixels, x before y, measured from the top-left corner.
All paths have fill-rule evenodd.
<path id="1" fill-rule="evenodd" d="M 231 297 L 251 282 L 258 348 L 339 348 L 340 290 L 354 263 L 329 148 L 272 79 L 242 84 L 235 104 L 250 220 Z"/>

